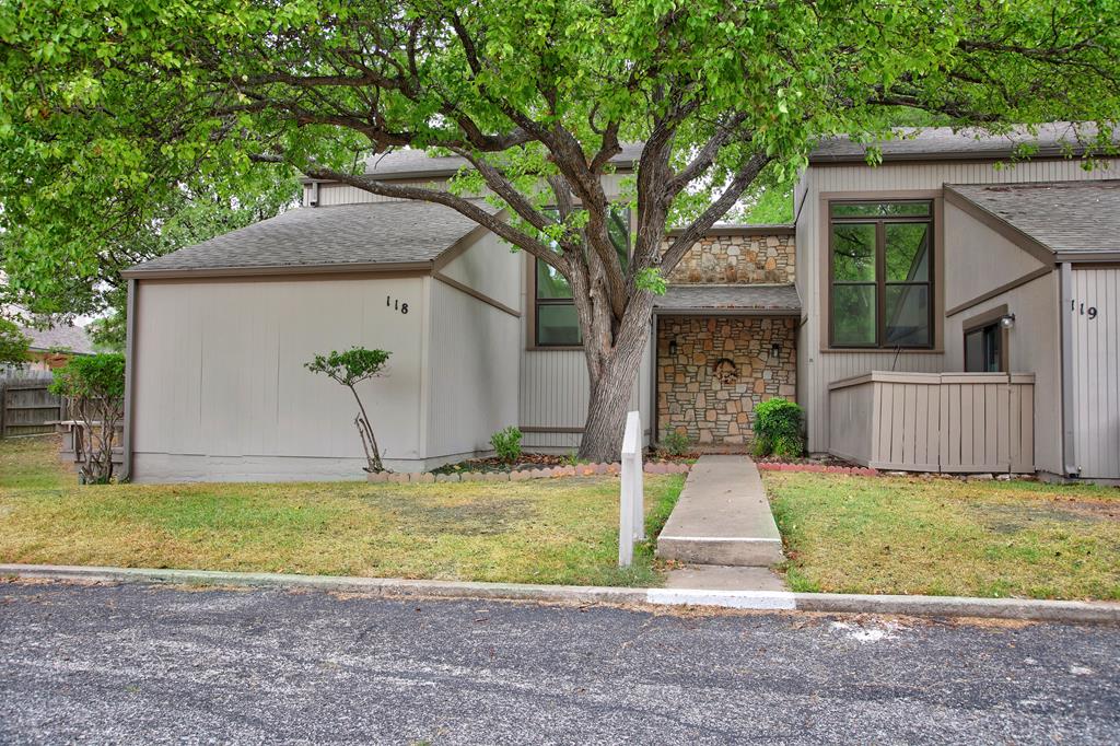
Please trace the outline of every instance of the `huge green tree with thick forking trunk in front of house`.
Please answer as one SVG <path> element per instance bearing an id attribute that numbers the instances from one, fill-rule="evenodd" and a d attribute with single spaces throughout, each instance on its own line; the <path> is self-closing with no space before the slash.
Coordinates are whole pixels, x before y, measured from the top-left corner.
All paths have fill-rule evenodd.
<path id="1" fill-rule="evenodd" d="M 1090 121 L 1089 152 L 1112 151 L 1118 11 L 1120 0 L 13 0 L 0 6 L 0 223 L 21 232 L 20 261 L 90 277 L 103 261 L 91 237 L 148 225 L 184 184 L 240 194 L 261 165 L 447 205 L 568 280 L 590 380 L 581 456 L 608 458 L 660 289 L 651 273 L 668 276 L 759 179 L 790 183 L 819 138 L 889 136 L 896 109 L 997 132 Z M 637 141 L 624 264 L 601 177 Z M 401 147 L 474 169 L 447 189 L 364 176 L 367 156 Z M 508 222 L 463 199 L 484 186 Z M 668 226 L 681 229 L 669 241 Z"/>

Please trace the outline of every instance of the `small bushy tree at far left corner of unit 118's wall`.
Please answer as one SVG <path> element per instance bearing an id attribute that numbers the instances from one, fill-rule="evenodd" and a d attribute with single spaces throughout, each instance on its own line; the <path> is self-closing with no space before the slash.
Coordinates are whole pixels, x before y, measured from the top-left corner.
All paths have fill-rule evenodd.
<path id="1" fill-rule="evenodd" d="M 75 356 L 55 371 L 50 392 L 66 398 L 71 419 L 82 425 L 74 439 L 82 484 L 109 484 L 116 428 L 124 418 L 124 355 Z"/>

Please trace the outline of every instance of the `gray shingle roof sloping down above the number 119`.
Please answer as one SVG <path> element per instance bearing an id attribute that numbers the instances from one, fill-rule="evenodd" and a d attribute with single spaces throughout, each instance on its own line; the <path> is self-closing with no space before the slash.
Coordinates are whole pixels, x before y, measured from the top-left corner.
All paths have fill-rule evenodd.
<path id="1" fill-rule="evenodd" d="M 1051 251 L 1120 251 L 1120 180 L 945 186 Z"/>

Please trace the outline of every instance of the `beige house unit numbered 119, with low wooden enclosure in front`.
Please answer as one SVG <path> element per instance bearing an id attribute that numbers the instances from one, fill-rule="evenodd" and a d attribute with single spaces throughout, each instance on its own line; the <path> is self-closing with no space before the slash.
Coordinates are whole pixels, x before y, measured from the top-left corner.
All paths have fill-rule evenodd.
<path id="1" fill-rule="evenodd" d="M 930 130 L 830 142 L 795 194 L 809 448 L 1120 479 L 1120 161 Z M 1023 141 L 1028 161 L 1009 161 Z"/>

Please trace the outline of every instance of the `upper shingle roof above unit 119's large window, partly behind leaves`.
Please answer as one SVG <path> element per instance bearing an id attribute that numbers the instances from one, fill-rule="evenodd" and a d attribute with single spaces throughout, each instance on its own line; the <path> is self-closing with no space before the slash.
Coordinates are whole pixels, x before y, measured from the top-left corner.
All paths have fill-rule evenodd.
<path id="1" fill-rule="evenodd" d="M 1025 143 L 1037 146 L 1034 157 L 1066 156 L 1071 149 L 1074 153 L 1083 152 L 1077 140 L 1079 132 L 1083 139 L 1096 136 L 1095 127 L 1070 122 L 1040 124 L 1036 134 L 1025 127 L 997 136 L 976 129 L 953 131 L 948 127 L 902 128 L 896 131 L 900 139 L 872 143 L 880 149 L 884 161 L 1004 159 L 1015 156 L 1016 149 Z M 824 140 L 810 153 L 809 162 L 865 162 L 868 147 L 846 137 Z"/>

